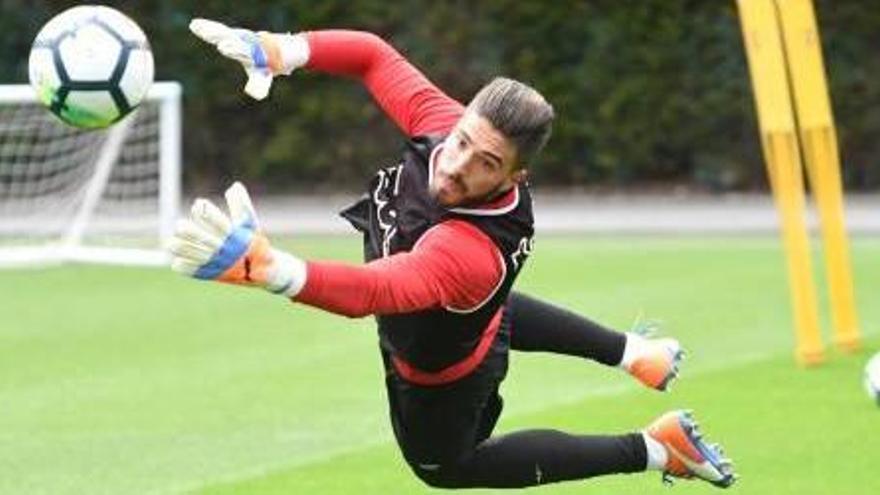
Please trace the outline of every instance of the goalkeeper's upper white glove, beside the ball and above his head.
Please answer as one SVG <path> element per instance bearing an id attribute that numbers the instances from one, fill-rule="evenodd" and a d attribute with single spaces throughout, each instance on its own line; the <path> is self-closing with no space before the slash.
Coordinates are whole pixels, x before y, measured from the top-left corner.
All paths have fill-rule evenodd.
<path id="1" fill-rule="evenodd" d="M 309 44 L 302 35 L 255 33 L 199 18 L 190 21 L 189 30 L 244 67 L 248 78 L 244 92 L 255 100 L 269 94 L 273 77 L 288 75 L 309 60 Z"/>

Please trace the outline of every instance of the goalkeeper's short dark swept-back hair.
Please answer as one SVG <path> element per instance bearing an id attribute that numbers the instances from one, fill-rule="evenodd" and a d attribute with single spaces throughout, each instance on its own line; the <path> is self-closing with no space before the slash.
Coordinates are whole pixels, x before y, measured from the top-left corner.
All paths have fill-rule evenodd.
<path id="1" fill-rule="evenodd" d="M 550 139 L 553 107 L 536 89 L 496 77 L 468 104 L 516 145 L 520 164 L 531 163 Z"/>

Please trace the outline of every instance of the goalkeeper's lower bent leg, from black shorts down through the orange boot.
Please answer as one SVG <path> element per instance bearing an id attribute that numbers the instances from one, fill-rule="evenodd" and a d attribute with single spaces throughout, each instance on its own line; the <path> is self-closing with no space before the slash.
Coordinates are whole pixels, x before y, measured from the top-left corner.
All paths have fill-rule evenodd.
<path id="1" fill-rule="evenodd" d="M 648 470 L 720 487 L 735 479 L 720 447 L 705 443 L 682 411 L 663 415 L 642 432 L 541 429 L 490 438 L 502 408 L 497 377 L 477 375 L 436 389 L 405 385 L 393 374 L 387 378 L 398 444 L 416 476 L 433 487 L 523 488 Z"/>

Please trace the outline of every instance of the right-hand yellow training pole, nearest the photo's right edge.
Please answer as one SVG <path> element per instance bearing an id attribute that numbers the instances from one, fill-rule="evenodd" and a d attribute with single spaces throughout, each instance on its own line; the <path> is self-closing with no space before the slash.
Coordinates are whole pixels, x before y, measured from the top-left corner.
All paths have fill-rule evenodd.
<path id="1" fill-rule="evenodd" d="M 812 0 L 776 0 L 788 55 L 804 161 L 819 208 L 834 341 L 843 350 L 860 345 L 846 234 L 837 133 Z"/>

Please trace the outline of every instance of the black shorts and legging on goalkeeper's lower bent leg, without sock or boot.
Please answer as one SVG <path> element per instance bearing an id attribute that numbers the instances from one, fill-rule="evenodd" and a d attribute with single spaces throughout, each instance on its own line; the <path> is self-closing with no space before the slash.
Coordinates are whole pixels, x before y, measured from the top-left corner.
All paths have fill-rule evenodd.
<path id="1" fill-rule="evenodd" d="M 498 387 L 507 368 L 504 352 L 441 387 L 406 383 L 384 358 L 395 437 L 413 472 L 430 486 L 517 488 L 648 467 L 642 433 L 528 430 L 489 438 L 502 410 Z"/>

